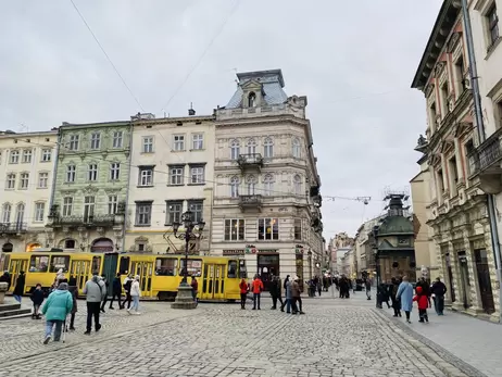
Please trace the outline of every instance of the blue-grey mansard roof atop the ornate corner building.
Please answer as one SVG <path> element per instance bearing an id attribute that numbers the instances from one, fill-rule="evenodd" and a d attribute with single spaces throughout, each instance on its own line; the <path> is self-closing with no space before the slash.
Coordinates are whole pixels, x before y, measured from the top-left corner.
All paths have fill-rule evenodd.
<path id="1" fill-rule="evenodd" d="M 237 78 L 239 84 L 236 92 L 231 97 L 230 101 L 226 105 L 227 109 L 235 109 L 242 106 L 242 85 L 249 80 L 256 80 L 262 83 L 263 87 L 263 99 L 266 104 L 280 104 L 285 103 L 288 100 L 288 96 L 283 90 L 284 88 L 284 78 L 283 72 L 280 70 L 272 71 L 256 71 L 256 72 L 246 72 L 238 73 Z"/>

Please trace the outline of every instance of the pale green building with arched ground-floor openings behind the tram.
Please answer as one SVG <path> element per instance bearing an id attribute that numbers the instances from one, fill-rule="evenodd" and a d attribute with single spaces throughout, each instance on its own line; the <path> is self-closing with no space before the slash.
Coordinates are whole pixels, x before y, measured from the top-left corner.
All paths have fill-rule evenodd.
<path id="1" fill-rule="evenodd" d="M 48 244 L 66 251 L 123 250 L 130 122 L 63 123 L 58 134 Z"/>

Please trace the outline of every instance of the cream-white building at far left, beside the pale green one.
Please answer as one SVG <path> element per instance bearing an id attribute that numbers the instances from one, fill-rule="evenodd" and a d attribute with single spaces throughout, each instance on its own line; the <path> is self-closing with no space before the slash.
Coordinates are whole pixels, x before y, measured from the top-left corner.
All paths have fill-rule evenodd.
<path id="1" fill-rule="evenodd" d="M 58 131 L 0 131 L 0 247 L 46 247 Z"/>

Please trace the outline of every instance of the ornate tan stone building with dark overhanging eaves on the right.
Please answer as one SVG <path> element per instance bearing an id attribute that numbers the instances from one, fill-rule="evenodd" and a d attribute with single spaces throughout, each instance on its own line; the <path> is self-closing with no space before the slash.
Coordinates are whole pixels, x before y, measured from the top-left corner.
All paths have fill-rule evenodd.
<path id="1" fill-rule="evenodd" d="M 502 51 L 494 51 L 500 41 L 495 3 L 473 1 L 469 13 L 478 50 L 476 59 L 489 62 L 490 55 L 498 53 L 501 83 Z M 477 137 L 468 67 L 460 1 L 445 0 L 412 84 L 424 92 L 427 103 L 427 137 L 421 138 L 417 147 L 427 159 L 431 177 L 427 224 L 432 228 L 438 265 L 450 292 L 447 300 L 456 310 L 498 321 L 500 298 L 486 193 L 490 193 L 493 175 L 500 185 L 501 147 L 497 133 L 481 144 Z M 478 75 L 481 83 L 491 81 L 492 95 L 500 96 L 493 99 L 500 101 L 502 84 L 495 90 L 494 67 L 490 72 L 480 66 Z M 489 91 L 486 88 L 482 97 Z M 500 103 L 494 100 L 484 104 L 487 134 L 490 128 L 491 133 L 500 130 Z"/>

